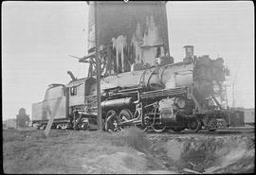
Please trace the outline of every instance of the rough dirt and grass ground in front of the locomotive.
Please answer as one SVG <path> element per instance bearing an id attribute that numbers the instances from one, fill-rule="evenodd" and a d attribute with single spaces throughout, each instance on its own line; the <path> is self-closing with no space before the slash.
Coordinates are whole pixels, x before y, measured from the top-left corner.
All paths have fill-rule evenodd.
<path id="1" fill-rule="evenodd" d="M 254 132 L 3 131 L 5 173 L 252 173 Z"/>

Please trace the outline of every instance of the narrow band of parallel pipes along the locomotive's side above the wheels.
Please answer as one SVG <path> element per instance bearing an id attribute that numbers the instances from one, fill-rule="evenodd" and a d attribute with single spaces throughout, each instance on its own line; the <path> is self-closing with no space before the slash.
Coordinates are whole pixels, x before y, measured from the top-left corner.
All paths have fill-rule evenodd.
<path id="1" fill-rule="evenodd" d="M 140 97 L 141 99 L 146 99 L 146 98 L 154 98 L 157 96 L 180 96 L 180 95 L 186 95 L 186 94 L 187 94 L 187 87 L 178 87 L 178 88 L 172 88 L 172 89 L 163 89 L 163 90 L 156 90 L 156 91 L 141 93 Z"/>

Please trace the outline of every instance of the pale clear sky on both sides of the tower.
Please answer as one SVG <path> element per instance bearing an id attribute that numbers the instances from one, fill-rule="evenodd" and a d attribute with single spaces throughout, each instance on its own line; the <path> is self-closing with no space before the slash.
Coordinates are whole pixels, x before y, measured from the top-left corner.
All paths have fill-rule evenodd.
<path id="1" fill-rule="evenodd" d="M 169 45 L 174 61 L 184 45 L 194 54 L 222 57 L 235 84 L 235 106 L 254 107 L 254 10 L 250 1 L 168 2 Z M 86 66 L 68 55 L 86 54 L 86 2 L 2 3 L 2 119 L 20 108 L 31 116 L 48 84 L 85 77 Z M 228 89 L 232 105 L 231 87 Z"/>

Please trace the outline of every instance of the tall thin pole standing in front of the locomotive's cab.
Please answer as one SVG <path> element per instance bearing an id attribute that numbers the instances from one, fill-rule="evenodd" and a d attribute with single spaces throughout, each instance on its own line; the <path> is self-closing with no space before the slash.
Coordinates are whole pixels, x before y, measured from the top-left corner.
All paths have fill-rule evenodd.
<path id="1" fill-rule="evenodd" d="M 98 22 L 97 22 L 97 1 L 94 2 L 94 23 L 95 23 L 95 59 L 97 69 L 97 104 L 98 104 L 98 127 L 102 131 L 102 115 L 101 115 L 101 62 L 99 58 L 99 38 L 98 38 Z"/>

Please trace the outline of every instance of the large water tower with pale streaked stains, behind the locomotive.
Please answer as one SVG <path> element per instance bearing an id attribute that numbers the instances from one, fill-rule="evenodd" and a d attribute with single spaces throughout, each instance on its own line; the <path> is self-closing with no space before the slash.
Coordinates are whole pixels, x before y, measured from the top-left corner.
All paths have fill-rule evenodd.
<path id="1" fill-rule="evenodd" d="M 131 65 L 154 65 L 169 55 L 166 1 L 98 1 L 97 28 L 104 73 L 121 73 Z M 95 2 L 88 2 L 88 57 L 95 53 Z M 88 58 L 87 57 L 87 58 Z M 85 57 L 86 59 L 86 57 Z M 103 67 L 103 66 L 102 66 Z"/>

